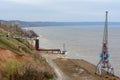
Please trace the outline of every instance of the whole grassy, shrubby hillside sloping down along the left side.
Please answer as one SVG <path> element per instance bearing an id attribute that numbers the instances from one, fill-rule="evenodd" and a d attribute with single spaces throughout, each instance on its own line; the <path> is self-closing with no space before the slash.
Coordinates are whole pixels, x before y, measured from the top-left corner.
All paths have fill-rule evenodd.
<path id="1" fill-rule="evenodd" d="M 0 80 L 49 80 L 52 68 L 34 49 L 34 31 L 0 22 Z"/>

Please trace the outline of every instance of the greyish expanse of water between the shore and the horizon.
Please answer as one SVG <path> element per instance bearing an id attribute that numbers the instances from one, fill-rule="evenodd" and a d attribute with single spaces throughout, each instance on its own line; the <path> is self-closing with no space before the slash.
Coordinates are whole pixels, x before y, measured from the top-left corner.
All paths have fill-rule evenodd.
<path id="1" fill-rule="evenodd" d="M 102 25 L 94 26 L 54 26 L 54 27 L 32 27 L 40 35 L 40 47 L 60 48 L 66 44 L 67 57 L 85 59 L 93 64 L 99 62 L 101 53 Z M 120 76 L 120 27 L 111 25 L 109 27 L 109 53 L 110 62 L 115 68 L 115 74 Z"/>

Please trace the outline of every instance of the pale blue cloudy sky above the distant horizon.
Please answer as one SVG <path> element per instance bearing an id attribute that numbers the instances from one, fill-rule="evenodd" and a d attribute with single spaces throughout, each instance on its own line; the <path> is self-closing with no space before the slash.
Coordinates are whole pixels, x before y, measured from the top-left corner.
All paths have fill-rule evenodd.
<path id="1" fill-rule="evenodd" d="M 0 20 L 120 22 L 120 0 L 0 0 Z"/>

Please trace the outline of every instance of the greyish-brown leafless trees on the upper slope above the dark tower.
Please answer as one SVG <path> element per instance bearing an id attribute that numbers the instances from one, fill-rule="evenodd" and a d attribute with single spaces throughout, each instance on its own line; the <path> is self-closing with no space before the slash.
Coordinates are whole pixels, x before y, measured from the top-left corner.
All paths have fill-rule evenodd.
<path id="1" fill-rule="evenodd" d="M 37 37 L 38 35 L 32 30 L 22 29 L 18 24 L 0 21 L 0 33 L 10 34 L 21 37 Z"/>

